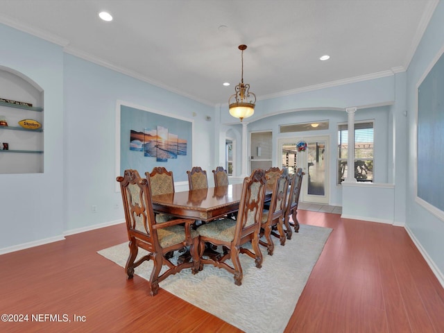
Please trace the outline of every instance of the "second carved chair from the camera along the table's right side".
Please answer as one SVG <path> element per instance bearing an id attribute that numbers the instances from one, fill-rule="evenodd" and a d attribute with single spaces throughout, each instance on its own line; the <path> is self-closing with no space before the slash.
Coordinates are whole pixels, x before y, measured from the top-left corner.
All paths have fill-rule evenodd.
<path id="1" fill-rule="evenodd" d="M 275 177 L 270 207 L 268 210 L 264 209 L 264 212 L 262 212 L 262 223 L 259 234 L 259 244 L 266 247 L 268 255 L 273 255 L 275 248 L 271 235 L 280 239 L 280 245 L 285 245 L 284 212 L 287 205 L 287 192 L 290 179 L 288 169 L 280 170 L 278 175 L 278 177 Z M 279 234 L 276 233 L 276 230 L 278 230 Z"/>

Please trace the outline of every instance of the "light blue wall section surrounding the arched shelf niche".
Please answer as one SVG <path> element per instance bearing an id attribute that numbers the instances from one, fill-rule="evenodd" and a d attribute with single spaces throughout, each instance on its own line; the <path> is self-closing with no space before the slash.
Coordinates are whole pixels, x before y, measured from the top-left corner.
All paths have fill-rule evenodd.
<path id="1" fill-rule="evenodd" d="M 0 24 L 0 65 L 44 92 L 44 173 L 0 175 L 0 250 L 63 231 L 62 48 Z"/>

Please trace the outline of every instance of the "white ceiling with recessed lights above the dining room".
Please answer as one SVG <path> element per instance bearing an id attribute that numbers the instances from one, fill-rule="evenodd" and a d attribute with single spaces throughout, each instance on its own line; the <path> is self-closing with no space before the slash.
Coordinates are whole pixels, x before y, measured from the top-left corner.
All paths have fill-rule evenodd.
<path id="1" fill-rule="evenodd" d="M 248 45 L 244 82 L 258 99 L 403 71 L 436 3 L 0 0 L 0 22 L 61 44 L 67 53 L 216 105 L 228 102 L 241 79 L 239 44 Z M 101 10 L 114 20 L 99 19 Z M 321 62 L 324 54 L 331 58 Z M 230 87 L 222 85 L 226 81 Z"/>

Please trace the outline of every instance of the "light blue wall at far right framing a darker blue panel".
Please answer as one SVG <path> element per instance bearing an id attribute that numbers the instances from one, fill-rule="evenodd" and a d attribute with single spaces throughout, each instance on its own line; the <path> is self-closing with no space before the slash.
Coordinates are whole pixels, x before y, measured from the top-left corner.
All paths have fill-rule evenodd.
<path id="1" fill-rule="evenodd" d="M 429 264 L 444 281 L 444 221 L 419 205 L 416 198 L 416 110 L 417 110 L 417 85 L 423 75 L 426 74 L 433 60 L 440 56 L 444 48 L 444 3 L 440 1 L 429 26 L 411 60 L 407 71 L 407 107 L 408 107 L 408 139 L 409 151 L 407 152 L 408 179 L 407 182 L 407 228 L 418 244 L 428 255 Z M 444 123 L 441 124 L 444 128 Z M 436 181 L 444 185 L 443 177 Z M 441 186 L 443 189 L 443 186 Z"/>

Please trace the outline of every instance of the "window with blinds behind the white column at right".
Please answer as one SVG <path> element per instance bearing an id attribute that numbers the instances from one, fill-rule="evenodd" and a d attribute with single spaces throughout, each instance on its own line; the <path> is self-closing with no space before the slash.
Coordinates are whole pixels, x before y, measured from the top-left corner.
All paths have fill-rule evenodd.
<path id="1" fill-rule="evenodd" d="M 355 123 L 355 178 L 373 182 L 373 121 Z M 348 175 L 348 124 L 338 128 L 338 184 Z"/>

